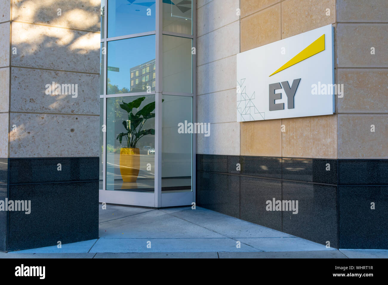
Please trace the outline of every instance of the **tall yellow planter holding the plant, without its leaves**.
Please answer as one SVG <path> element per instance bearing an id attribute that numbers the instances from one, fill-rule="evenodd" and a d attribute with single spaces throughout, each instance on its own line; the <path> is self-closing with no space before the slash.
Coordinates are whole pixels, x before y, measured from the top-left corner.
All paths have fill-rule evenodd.
<path id="1" fill-rule="evenodd" d="M 135 182 L 140 169 L 140 150 L 122 148 L 120 150 L 120 173 L 124 182 Z"/>

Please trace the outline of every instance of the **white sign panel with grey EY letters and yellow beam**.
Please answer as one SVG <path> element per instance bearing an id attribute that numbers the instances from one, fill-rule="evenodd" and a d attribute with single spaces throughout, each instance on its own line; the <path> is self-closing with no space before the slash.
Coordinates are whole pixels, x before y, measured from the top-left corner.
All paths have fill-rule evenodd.
<path id="1" fill-rule="evenodd" d="M 333 28 L 237 54 L 237 122 L 334 112 Z"/>

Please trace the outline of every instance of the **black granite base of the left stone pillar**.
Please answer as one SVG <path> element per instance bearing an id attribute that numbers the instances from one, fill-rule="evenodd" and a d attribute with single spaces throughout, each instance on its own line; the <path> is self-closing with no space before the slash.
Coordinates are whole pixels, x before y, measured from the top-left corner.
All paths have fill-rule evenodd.
<path id="1" fill-rule="evenodd" d="M 0 211 L 1 250 L 98 238 L 99 157 L 8 159 L 8 173 L 0 200 L 31 201 L 31 212 Z"/>

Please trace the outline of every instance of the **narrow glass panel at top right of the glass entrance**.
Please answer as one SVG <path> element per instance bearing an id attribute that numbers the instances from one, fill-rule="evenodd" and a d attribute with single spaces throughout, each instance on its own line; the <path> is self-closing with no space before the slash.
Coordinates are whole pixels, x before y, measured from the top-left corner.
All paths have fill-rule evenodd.
<path id="1" fill-rule="evenodd" d="M 191 0 L 163 0 L 163 31 L 192 35 Z"/>

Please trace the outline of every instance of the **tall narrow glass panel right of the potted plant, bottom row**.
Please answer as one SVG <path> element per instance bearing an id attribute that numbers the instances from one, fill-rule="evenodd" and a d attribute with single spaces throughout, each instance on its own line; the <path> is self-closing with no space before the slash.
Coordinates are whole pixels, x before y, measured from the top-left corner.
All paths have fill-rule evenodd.
<path id="1" fill-rule="evenodd" d="M 162 192 L 188 192 L 192 185 L 192 97 L 163 95 L 163 99 Z"/>

